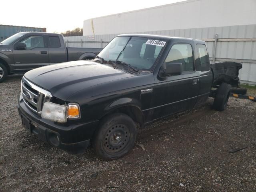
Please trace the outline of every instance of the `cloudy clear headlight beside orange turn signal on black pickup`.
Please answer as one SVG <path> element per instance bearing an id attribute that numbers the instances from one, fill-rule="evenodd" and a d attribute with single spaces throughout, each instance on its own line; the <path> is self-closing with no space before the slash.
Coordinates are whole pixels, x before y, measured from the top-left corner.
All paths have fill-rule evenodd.
<path id="1" fill-rule="evenodd" d="M 56 122 L 67 122 L 67 106 L 45 102 L 41 117 Z"/>

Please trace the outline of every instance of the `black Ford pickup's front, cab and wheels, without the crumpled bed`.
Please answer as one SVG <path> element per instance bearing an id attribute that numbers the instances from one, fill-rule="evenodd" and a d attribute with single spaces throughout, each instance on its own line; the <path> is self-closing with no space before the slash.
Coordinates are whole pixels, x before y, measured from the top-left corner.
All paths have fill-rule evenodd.
<path id="1" fill-rule="evenodd" d="M 105 160 L 134 146 L 137 128 L 203 104 L 226 108 L 230 84 L 213 85 L 202 40 L 146 34 L 114 38 L 96 58 L 24 74 L 18 111 L 30 133 L 80 152 L 89 144 Z"/>

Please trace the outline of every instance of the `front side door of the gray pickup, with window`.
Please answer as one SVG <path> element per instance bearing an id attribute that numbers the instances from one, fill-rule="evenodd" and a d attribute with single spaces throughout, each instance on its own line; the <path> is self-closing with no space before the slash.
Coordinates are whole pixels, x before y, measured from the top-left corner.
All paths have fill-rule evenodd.
<path id="1" fill-rule="evenodd" d="M 15 72 L 28 70 L 49 64 L 49 53 L 45 35 L 29 35 L 18 42 L 26 44 L 26 49 L 18 50 L 16 44 L 13 48 Z M 16 42 L 16 43 L 18 43 Z"/>

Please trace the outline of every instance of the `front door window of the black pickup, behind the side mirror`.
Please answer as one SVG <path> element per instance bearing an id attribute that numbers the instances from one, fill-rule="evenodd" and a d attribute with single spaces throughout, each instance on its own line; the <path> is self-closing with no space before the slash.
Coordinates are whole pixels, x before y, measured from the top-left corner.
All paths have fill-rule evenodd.
<path id="1" fill-rule="evenodd" d="M 181 63 L 182 71 L 194 71 L 193 53 L 190 44 L 174 44 L 165 59 L 166 63 Z"/>

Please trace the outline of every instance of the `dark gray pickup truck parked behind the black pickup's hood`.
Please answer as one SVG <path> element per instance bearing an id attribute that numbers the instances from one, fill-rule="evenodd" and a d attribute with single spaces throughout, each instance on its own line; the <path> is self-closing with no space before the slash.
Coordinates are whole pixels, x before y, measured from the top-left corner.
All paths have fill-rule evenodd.
<path id="1" fill-rule="evenodd" d="M 60 34 L 20 32 L 0 43 L 0 83 L 8 74 L 75 60 L 90 60 L 101 48 L 67 48 Z"/>

